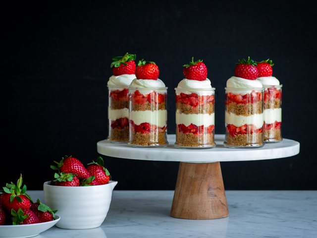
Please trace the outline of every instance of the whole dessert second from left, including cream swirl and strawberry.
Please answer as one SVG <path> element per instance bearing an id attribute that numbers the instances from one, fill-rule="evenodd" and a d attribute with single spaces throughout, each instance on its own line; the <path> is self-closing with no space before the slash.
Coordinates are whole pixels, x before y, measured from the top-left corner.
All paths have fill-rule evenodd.
<path id="1" fill-rule="evenodd" d="M 154 62 L 140 60 L 129 86 L 129 146 L 167 146 L 167 88 Z"/>

